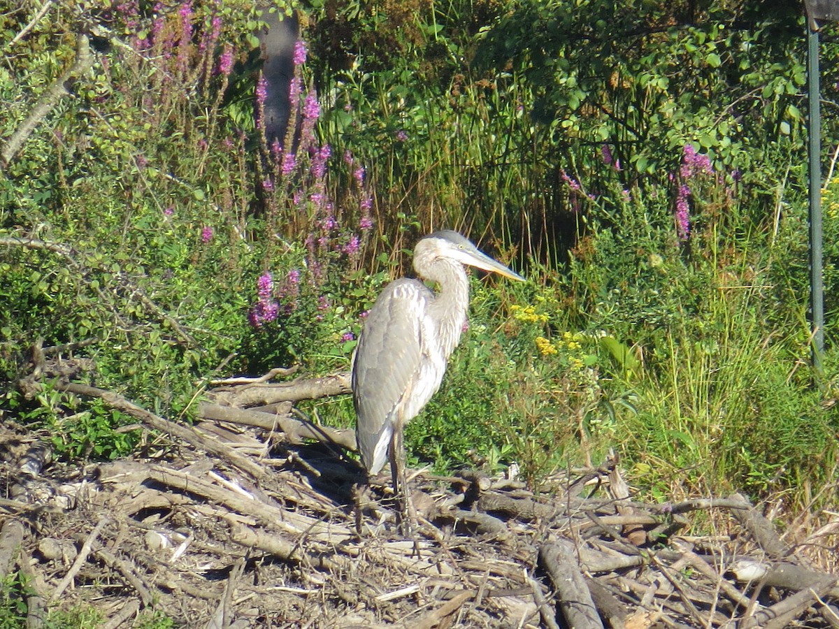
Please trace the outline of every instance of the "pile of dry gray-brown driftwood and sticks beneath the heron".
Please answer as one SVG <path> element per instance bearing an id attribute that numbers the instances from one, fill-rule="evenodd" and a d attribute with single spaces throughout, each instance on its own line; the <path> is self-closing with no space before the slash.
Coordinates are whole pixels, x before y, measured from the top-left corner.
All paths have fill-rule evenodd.
<path id="1" fill-rule="evenodd" d="M 74 468 L 4 419 L 0 574 L 28 575 L 29 627 L 76 606 L 109 628 L 148 610 L 202 629 L 839 626 L 831 562 L 811 559 L 835 551 L 839 519 L 793 548 L 741 495 L 634 502 L 611 460 L 538 493 L 417 472 L 405 539 L 389 479 L 359 489 L 352 432 L 294 415 L 300 398 L 347 392 L 345 376 L 228 381 L 188 426 L 63 368 L 19 385 L 49 375 L 154 440 L 144 459 Z M 697 521 L 715 533 L 690 534 Z"/>

